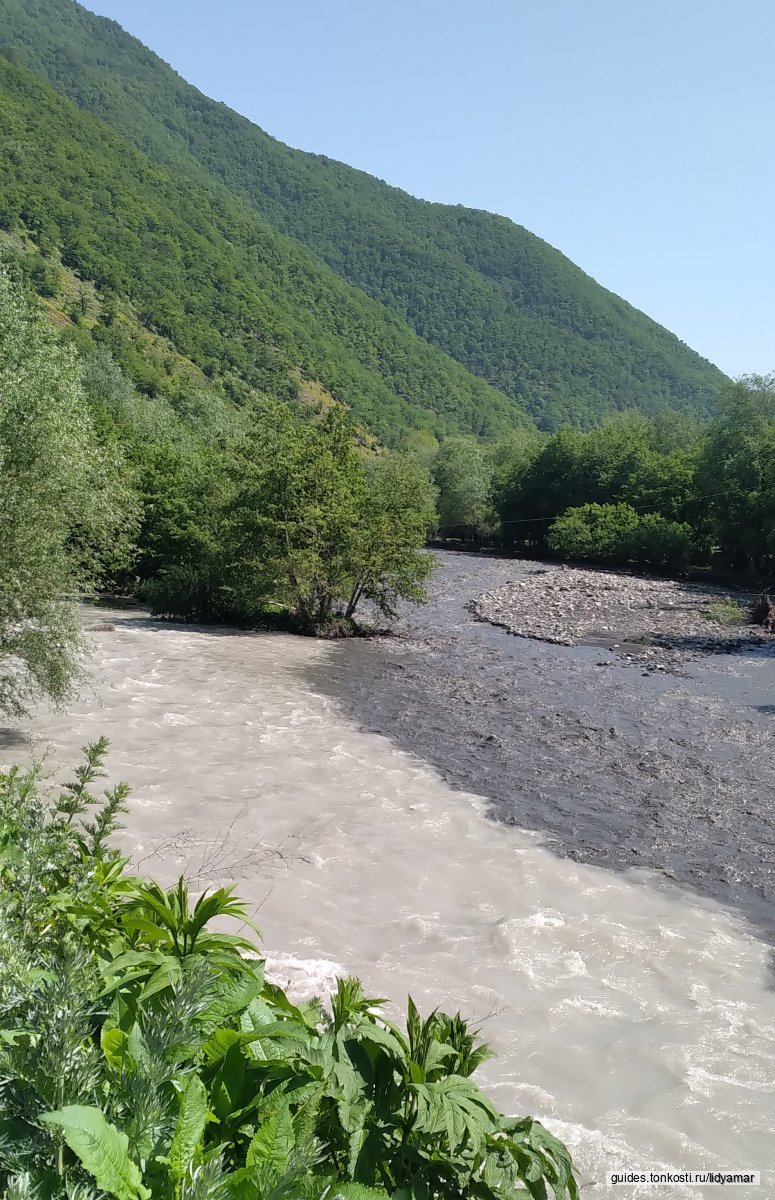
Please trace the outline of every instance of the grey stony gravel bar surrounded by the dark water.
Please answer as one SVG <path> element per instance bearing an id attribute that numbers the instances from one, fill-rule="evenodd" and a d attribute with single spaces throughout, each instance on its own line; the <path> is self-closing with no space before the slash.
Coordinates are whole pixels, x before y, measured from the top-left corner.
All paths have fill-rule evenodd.
<path id="1" fill-rule="evenodd" d="M 710 584 L 533 564 L 519 578 L 476 596 L 470 611 L 517 637 L 602 644 L 647 670 L 678 671 L 701 655 L 775 644 L 774 635 L 746 622 L 755 602 L 753 594 Z M 714 616 L 734 618 L 734 605 L 740 623 Z"/>

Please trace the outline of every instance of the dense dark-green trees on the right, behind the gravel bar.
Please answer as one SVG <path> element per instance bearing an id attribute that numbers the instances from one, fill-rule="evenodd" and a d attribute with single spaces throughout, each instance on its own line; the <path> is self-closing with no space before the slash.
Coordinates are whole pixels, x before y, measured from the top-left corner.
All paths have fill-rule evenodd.
<path id="1" fill-rule="evenodd" d="M 528 554 L 769 578 L 775 377 L 726 384 L 716 404 L 708 422 L 623 413 L 587 433 L 447 438 L 425 451 L 439 527 Z"/>

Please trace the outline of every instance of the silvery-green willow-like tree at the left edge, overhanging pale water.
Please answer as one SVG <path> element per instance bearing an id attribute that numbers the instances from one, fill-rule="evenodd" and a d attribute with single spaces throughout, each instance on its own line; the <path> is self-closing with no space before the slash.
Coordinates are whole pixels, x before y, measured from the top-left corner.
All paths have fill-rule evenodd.
<path id="1" fill-rule="evenodd" d="M 0 270 L 0 710 L 71 695 L 83 650 L 72 594 L 130 550 L 136 504 L 121 475 L 74 350 Z"/>

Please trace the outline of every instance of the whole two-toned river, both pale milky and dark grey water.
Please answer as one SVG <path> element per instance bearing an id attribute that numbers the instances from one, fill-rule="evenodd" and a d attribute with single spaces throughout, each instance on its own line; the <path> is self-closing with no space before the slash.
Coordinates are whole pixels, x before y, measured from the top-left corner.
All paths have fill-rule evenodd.
<path id="1" fill-rule="evenodd" d="M 136 860 L 234 877 L 278 979 L 480 1020 L 486 1084 L 570 1144 L 583 1196 L 719 1194 L 605 1183 L 656 1165 L 774 1195 L 773 660 L 596 667 L 468 617 L 530 564 L 443 559 L 395 640 L 110 613 L 92 686 L 26 737 L 59 772 L 104 732 Z"/>

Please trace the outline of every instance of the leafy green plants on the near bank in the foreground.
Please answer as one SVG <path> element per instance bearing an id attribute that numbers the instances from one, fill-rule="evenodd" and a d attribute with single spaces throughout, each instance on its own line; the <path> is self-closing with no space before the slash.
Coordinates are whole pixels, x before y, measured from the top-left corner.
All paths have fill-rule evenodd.
<path id="1" fill-rule="evenodd" d="M 409 1000 L 399 1027 L 356 979 L 293 1003 L 221 931 L 252 928 L 230 888 L 130 875 L 126 788 L 89 790 L 106 746 L 53 804 L 0 775 L 4 1198 L 577 1196 L 565 1147 L 473 1081 L 488 1051 L 459 1015 Z"/>

